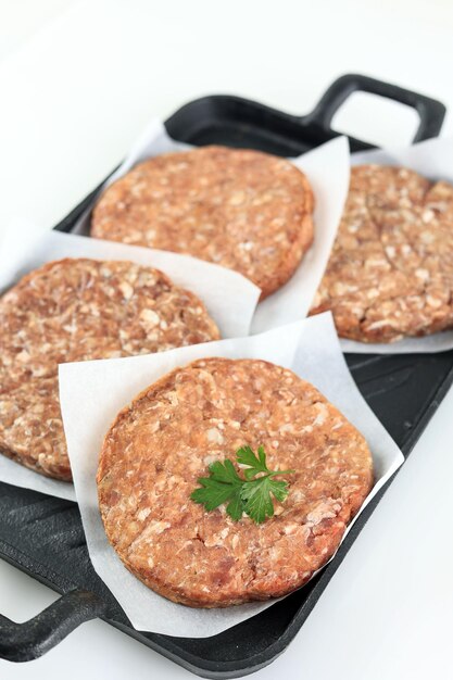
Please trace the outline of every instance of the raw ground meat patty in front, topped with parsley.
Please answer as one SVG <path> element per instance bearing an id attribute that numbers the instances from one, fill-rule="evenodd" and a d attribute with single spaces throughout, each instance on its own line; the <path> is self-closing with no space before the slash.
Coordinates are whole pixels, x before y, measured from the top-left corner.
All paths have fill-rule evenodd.
<path id="1" fill-rule="evenodd" d="M 190 500 L 207 466 L 263 444 L 289 495 L 256 525 Z M 110 428 L 98 470 L 110 542 L 149 588 L 193 607 L 285 595 L 338 547 L 373 484 L 364 438 L 312 385 L 264 361 L 167 374 Z"/>

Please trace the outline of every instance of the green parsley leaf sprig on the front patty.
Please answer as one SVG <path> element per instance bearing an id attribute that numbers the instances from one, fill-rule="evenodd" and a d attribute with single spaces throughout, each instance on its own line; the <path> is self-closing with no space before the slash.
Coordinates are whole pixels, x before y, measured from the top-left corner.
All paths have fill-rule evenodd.
<path id="1" fill-rule="evenodd" d="M 206 511 L 227 503 L 226 512 L 235 521 L 246 513 L 253 521 L 262 524 L 274 515 L 272 496 L 282 502 L 289 493 L 288 482 L 277 481 L 274 477 L 290 475 L 294 470 L 269 470 L 263 446 L 259 446 L 257 455 L 250 446 L 242 446 L 236 452 L 236 461 L 248 466 L 243 470 L 244 479 L 239 477 L 231 461 L 217 461 L 210 465 L 209 477 L 198 479 L 201 488 L 196 489 L 190 498 L 204 505 Z"/>

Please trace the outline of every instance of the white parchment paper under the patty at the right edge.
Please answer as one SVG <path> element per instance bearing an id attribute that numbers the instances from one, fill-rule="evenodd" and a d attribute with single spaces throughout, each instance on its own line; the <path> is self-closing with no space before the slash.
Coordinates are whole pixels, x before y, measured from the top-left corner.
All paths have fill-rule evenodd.
<path id="1" fill-rule="evenodd" d="M 432 181 L 444 179 L 453 184 L 453 138 L 439 137 L 399 149 L 361 151 L 352 154 L 351 163 L 352 165 L 367 163 L 403 165 Z M 415 354 L 417 352 L 430 354 L 452 348 L 453 330 L 432 333 L 424 338 L 404 338 L 387 344 L 341 340 L 343 352 L 361 354 Z"/>

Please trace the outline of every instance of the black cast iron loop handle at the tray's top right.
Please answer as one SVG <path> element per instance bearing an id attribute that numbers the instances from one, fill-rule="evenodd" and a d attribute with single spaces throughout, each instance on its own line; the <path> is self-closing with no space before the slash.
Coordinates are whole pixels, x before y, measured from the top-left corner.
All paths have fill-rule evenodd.
<path id="1" fill-rule="evenodd" d="M 420 123 L 414 141 L 423 141 L 439 135 L 445 117 L 445 106 L 440 101 L 358 74 L 348 74 L 335 80 L 320 98 L 310 117 L 313 117 L 326 131 L 331 131 L 330 124 L 334 115 L 348 97 L 356 91 L 387 97 L 415 109 Z"/>

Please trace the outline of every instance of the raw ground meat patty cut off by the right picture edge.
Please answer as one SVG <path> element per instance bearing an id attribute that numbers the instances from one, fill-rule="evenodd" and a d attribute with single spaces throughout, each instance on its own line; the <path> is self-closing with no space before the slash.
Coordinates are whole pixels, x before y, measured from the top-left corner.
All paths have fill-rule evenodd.
<path id="1" fill-rule="evenodd" d="M 362 165 L 312 314 L 363 342 L 453 327 L 453 186 L 401 167 Z"/>

